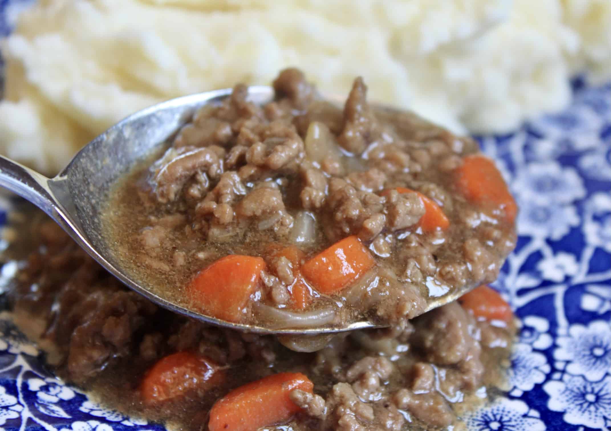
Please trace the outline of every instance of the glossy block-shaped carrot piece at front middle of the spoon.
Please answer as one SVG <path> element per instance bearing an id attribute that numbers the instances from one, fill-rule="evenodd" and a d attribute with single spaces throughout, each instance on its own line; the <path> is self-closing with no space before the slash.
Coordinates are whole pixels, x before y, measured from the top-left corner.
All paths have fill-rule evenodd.
<path id="1" fill-rule="evenodd" d="M 375 261 L 356 235 L 331 245 L 301 267 L 306 280 L 324 294 L 333 294 L 373 267 Z"/>

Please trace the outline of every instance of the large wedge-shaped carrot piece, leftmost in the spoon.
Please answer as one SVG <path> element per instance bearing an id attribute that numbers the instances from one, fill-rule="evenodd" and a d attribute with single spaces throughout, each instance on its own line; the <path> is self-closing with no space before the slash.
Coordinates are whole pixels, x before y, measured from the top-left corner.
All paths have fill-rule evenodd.
<path id="1" fill-rule="evenodd" d="M 205 313 L 239 322 L 257 289 L 265 261 L 254 256 L 229 255 L 202 269 L 189 284 L 194 305 Z"/>

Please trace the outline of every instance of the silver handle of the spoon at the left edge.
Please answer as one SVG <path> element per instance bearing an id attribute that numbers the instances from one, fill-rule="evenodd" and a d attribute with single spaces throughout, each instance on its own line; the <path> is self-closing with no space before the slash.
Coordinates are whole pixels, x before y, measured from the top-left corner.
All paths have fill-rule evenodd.
<path id="1" fill-rule="evenodd" d="M 0 187 L 29 200 L 56 219 L 57 205 L 48 183 L 46 176 L 0 156 Z"/>

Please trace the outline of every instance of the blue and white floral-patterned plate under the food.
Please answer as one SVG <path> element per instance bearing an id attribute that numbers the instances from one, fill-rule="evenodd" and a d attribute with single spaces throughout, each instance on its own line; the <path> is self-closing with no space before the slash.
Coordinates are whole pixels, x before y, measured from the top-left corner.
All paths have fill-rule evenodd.
<path id="1" fill-rule="evenodd" d="M 0 0 L 0 35 L 31 1 Z M 520 206 L 518 247 L 493 286 L 523 327 L 507 396 L 470 415 L 469 430 L 611 429 L 611 83 L 576 79 L 573 91 L 561 114 L 478 137 Z M 3 222 L 8 206 L 0 206 Z M 100 407 L 53 378 L 0 314 L 0 431 L 26 429 L 163 427 Z"/>

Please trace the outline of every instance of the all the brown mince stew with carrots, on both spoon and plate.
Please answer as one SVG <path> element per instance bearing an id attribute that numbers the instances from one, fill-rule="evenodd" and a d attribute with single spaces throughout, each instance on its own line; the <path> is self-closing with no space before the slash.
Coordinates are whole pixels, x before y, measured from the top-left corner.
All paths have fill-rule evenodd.
<path id="1" fill-rule="evenodd" d="M 265 106 L 237 85 L 200 109 L 116 190 L 108 234 L 160 293 L 221 319 L 360 313 L 390 327 L 296 352 L 191 320 L 127 289 L 40 212 L 18 241 L 30 245 L 8 294 L 16 322 L 57 375 L 170 429 L 459 429 L 500 391 L 513 314 L 481 285 L 418 315 L 496 278 L 515 242 L 505 183 L 472 140 L 368 106 L 361 79 L 343 110 L 298 70 L 274 89 Z"/>

